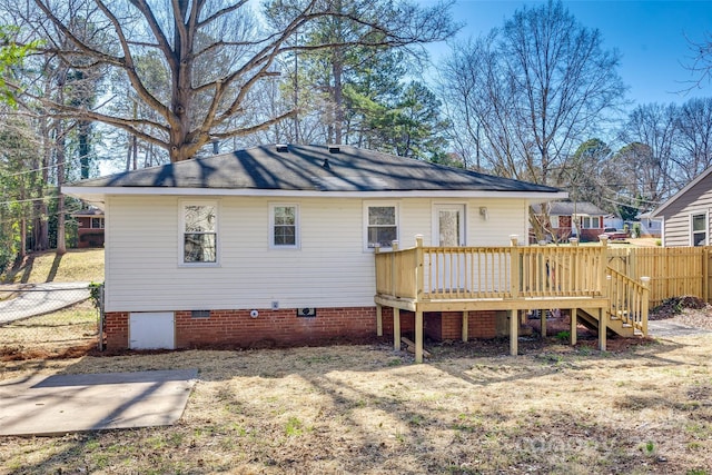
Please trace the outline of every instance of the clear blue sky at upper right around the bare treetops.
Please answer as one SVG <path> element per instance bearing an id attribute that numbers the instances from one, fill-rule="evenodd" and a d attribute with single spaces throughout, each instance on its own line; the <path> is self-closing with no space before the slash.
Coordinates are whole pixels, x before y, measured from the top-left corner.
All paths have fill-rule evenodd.
<path id="1" fill-rule="evenodd" d="M 422 4 L 434 1 L 422 0 Z M 542 1 L 457 0 L 454 18 L 466 23 L 457 39 L 476 38 L 501 27 L 523 6 Z M 694 76 L 683 63 L 691 63 L 689 40 L 701 42 L 712 34 L 712 0 L 710 1 L 626 1 L 570 0 L 564 7 L 587 28 L 596 28 L 606 49 L 621 55 L 619 73 L 629 86 L 627 98 L 635 102 L 678 102 L 691 97 L 712 97 L 712 85 L 686 95 Z M 447 52 L 444 44 L 429 48 L 433 60 Z"/>

